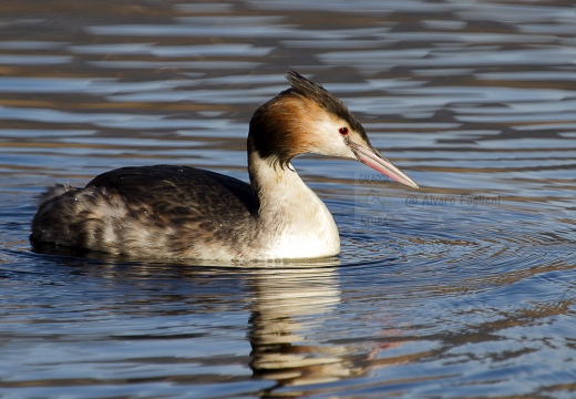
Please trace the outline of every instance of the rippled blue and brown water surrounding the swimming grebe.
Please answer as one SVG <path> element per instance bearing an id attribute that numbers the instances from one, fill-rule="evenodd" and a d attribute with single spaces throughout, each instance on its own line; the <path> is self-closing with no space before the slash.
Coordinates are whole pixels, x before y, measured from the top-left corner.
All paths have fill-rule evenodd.
<path id="1" fill-rule="evenodd" d="M 1 398 L 572 398 L 570 1 L 20 1 L 0 17 Z M 34 254 L 34 196 L 104 171 L 247 180 L 296 69 L 420 186 L 295 166 L 338 258 Z"/>

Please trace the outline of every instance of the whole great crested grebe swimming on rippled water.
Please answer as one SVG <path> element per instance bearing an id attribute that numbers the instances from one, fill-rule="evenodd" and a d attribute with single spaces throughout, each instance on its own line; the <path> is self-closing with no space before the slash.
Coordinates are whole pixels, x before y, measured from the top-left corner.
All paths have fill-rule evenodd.
<path id="1" fill-rule="evenodd" d="M 30 235 L 34 250 L 223 260 L 338 255 L 332 215 L 294 170 L 295 156 L 356 158 L 418 185 L 370 144 L 339 99 L 295 71 L 287 79 L 291 88 L 250 120 L 250 184 L 176 165 L 121 167 L 83 188 L 56 184 L 39 198 Z"/>

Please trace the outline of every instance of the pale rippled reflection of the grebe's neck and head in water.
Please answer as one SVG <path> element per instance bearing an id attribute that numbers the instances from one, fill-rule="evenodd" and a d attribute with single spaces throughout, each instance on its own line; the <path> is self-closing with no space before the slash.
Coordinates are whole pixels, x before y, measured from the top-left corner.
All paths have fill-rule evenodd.
<path id="1" fill-rule="evenodd" d="M 402 345 L 384 339 L 367 351 L 354 342 L 332 344 L 348 338 L 339 329 L 330 332 L 340 324 L 341 303 L 338 269 L 333 266 L 259 269 L 250 276 L 250 285 L 255 293 L 250 367 L 257 378 L 277 382 L 272 390 L 337 381 L 390 366 L 376 358 L 382 350 Z M 282 397 L 289 396 L 282 391 Z"/>

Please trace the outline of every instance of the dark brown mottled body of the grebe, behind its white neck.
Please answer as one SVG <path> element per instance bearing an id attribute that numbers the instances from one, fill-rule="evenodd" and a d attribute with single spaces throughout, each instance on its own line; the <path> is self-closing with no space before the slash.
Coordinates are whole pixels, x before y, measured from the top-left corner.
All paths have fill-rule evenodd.
<path id="1" fill-rule="evenodd" d="M 245 246 L 234 237 L 254 223 L 257 206 L 249 185 L 228 176 L 189 166 L 124 167 L 84 188 L 50 187 L 40 197 L 30 239 L 39 247 L 51 243 L 143 258 L 218 258 L 226 238 L 226 249 L 241 256 Z M 204 231 L 210 234 L 198 234 Z"/>

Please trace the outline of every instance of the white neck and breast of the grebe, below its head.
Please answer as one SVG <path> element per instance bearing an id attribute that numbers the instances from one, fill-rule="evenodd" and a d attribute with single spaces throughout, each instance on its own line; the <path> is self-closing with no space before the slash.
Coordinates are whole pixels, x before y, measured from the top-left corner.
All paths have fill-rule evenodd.
<path id="1" fill-rule="evenodd" d="M 261 255 L 270 258 L 310 258 L 340 253 L 340 236 L 322 201 L 302 182 L 291 164 L 272 165 L 256 151 L 248 171 L 260 207 L 257 214 Z"/>

